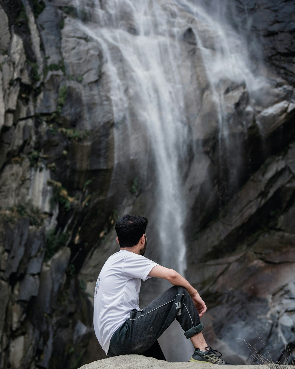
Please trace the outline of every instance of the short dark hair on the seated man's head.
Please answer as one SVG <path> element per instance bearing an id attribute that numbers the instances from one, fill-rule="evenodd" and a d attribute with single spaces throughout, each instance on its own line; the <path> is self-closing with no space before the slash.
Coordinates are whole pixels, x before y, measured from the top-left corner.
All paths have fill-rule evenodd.
<path id="1" fill-rule="evenodd" d="M 148 220 L 140 215 L 123 215 L 115 225 L 120 247 L 132 247 L 138 244 L 145 233 Z"/>

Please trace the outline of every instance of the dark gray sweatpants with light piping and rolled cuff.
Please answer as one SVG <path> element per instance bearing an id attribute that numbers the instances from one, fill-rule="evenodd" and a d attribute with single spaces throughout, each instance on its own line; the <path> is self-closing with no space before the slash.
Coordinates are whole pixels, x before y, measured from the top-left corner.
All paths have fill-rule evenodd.
<path id="1" fill-rule="evenodd" d="M 130 318 L 112 335 L 108 356 L 143 354 L 176 319 L 187 338 L 200 332 L 198 311 L 187 290 L 173 286 Z"/>

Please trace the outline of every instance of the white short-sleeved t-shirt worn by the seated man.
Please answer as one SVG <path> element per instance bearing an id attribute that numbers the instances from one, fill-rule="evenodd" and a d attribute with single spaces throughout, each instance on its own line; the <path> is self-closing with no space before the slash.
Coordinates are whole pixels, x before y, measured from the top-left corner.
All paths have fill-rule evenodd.
<path id="1" fill-rule="evenodd" d="M 105 262 L 97 278 L 94 292 L 94 331 L 108 354 L 114 332 L 139 308 L 141 280 L 158 265 L 145 256 L 120 250 Z"/>

